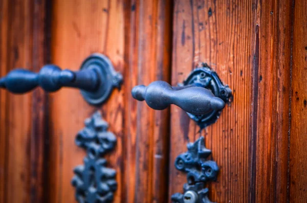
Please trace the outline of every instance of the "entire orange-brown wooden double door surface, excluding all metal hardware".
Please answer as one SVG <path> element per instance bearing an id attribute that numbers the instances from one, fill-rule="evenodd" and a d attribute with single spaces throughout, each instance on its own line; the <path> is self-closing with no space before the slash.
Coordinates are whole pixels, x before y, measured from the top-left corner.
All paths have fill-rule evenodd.
<path id="1" fill-rule="evenodd" d="M 96 110 L 117 137 L 105 158 L 117 171 L 114 202 L 171 202 L 186 174 L 176 157 L 203 136 L 220 167 L 216 202 L 307 198 L 307 3 L 269 1 L 0 0 L 0 74 L 43 64 L 78 70 L 106 55 L 123 85 L 101 107 L 76 89 L 0 90 L 0 203 L 75 202 L 75 137 Z M 202 129 L 177 106 L 158 111 L 131 97 L 138 84 L 176 86 L 206 62 L 233 102 Z"/>

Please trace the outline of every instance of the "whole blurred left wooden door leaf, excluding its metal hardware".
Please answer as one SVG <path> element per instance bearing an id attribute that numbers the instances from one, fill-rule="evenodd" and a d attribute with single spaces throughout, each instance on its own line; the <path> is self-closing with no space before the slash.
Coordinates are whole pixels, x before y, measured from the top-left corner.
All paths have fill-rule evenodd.
<path id="1" fill-rule="evenodd" d="M 169 110 L 154 111 L 131 88 L 170 81 L 170 1 L 1 1 L 1 75 L 54 63 L 78 70 L 106 55 L 125 83 L 99 108 L 79 91 L 12 95 L 1 90 L 0 202 L 74 202 L 73 169 L 86 152 L 75 137 L 96 110 L 117 137 L 106 159 L 117 171 L 114 202 L 167 199 Z M 9 136 L 7 136 L 9 134 Z"/>

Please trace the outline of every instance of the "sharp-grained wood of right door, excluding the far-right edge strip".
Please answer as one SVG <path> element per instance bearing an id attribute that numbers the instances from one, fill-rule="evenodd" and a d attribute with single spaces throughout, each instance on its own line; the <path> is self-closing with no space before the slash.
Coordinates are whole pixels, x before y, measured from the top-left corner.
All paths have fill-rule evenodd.
<path id="1" fill-rule="evenodd" d="M 234 95 L 201 132 L 183 110 L 171 108 L 170 167 L 188 142 L 204 136 L 220 166 L 209 184 L 213 201 L 287 199 L 291 8 L 274 0 L 175 2 L 172 85 L 207 62 Z M 185 182 L 170 168 L 169 196 Z"/>

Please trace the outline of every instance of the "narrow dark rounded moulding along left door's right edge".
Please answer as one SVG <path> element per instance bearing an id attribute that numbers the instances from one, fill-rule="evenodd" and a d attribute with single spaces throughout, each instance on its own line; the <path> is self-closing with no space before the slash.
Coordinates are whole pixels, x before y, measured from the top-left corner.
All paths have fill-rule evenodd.
<path id="1" fill-rule="evenodd" d="M 157 3 L 157 36 L 153 39 L 153 48 L 156 48 L 155 80 L 170 83 L 171 48 L 172 48 L 172 12 L 173 3 L 170 0 Z M 155 24 L 153 24 L 155 25 Z M 152 25 L 152 27 L 154 27 Z M 167 202 L 168 198 L 168 162 L 169 162 L 169 109 L 155 111 L 153 126 L 153 172 L 151 197 L 149 202 Z"/>

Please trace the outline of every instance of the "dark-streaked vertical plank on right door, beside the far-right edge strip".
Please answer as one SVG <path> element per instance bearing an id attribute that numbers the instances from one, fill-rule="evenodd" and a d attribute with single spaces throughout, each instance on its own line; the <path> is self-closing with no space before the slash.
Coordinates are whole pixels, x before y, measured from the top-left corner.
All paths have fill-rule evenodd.
<path id="1" fill-rule="evenodd" d="M 287 202 L 292 2 L 255 4 L 251 202 Z"/>

